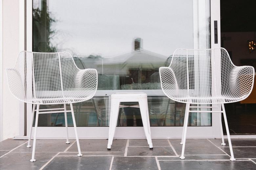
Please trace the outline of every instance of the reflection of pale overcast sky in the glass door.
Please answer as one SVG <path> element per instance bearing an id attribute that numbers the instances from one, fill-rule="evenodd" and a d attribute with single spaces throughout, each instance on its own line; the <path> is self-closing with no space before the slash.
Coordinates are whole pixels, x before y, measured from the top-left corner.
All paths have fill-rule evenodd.
<path id="1" fill-rule="evenodd" d="M 58 20 L 52 25 L 58 31 L 52 42 L 58 44 L 60 51 L 116 56 L 132 50 L 134 37 L 143 39 L 144 49 L 164 56 L 170 56 L 176 48 L 193 48 L 191 0 L 49 0 L 48 3 L 51 15 Z"/>

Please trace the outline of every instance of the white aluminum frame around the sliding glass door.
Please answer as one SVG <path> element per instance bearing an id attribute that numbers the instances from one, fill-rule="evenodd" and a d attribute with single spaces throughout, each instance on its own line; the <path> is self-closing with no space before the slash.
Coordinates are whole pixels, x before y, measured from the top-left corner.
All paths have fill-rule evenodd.
<path id="1" fill-rule="evenodd" d="M 23 1 L 23 0 L 22 0 Z M 24 2 L 24 1 L 23 1 Z M 198 4 L 198 7 L 202 6 L 200 0 L 193 0 L 193 4 Z M 32 0 L 27 0 L 26 2 L 27 11 L 27 22 L 26 22 L 26 47 L 27 51 L 32 51 Z M 194 7 L 193 7 L 194 8 Z M 195 8 L 194 8 L 195 9 Z M 203 12 L 203 10 L 201 10 Z M 21 12 L 20 15 L 24 15 Z M 198 15 L 197 11 L 194 10 L 194 16 Z M 194 17 L 195 19 L 196 17 Z M 217 18 L 217 19 L 216 19 Z M 220 21 L 220 0 L 211 0 L 211 23 L 214 20 Z M 195 21 L 194 21 L 195 22 Z M 198 25 L 194 24 L 194 28 Z M 218 31 L 220 31 L 220 23 L 218 23 Z M 211 24 L 211 32 L 214 32 L 213 24 Z M 194 32 L 195 33 L 195 32 Z M 220 35 L 220 32 L 219 32 Z M 220 39 L 220 36 L 219 36 Z M 211 35 L 211 47 L 220 47 L 219 44 L 214 44 L 214 36 Z M 194 44 L 198 44 L 198 37 L 194 35 Z M 220 40 L 218 41 L 220 42 Z M 23 40 L 24 43 L 24 40 Z M 162 90 L 134 90 L 133 92 L 145 92 L 148 96 L 164 96 L 161 92 Z M 104 90 L 97 91 L 95 96 L 110 96 L 113 93 L 124 92 L 122 90 Z M 127 92 L 127 91 L 126 91 Z M 109 102 L 110 103 L 110 102 Z M 24 115 L 23 109 L 20 110 L 20 114 Z M 27 122 L 31 122 L 32 118 L 32 104 L 27 104 Z M 204 127 L 188 127 L 188 138 L 220 138 L 220 116 L 217 114 L 212 114 L 212 126 Z M 66 139 L 65 127 L 38 127 L 37 139 Z M 72 129 L 73 127 L 68 127 L 69 138 L 75 139 L 75 133 Z M 23 127 L 22 127 L 23 129 Z M 29 134 L 29 123 L 27 123 L 27 134 Z M 33 127 L 34 129 L 34 127 Z M 32 129 L 32 131 L 33 131 Z M 108 138 L 109 127 L 77 127 L 77 132 L 79 133 L 79 139 L 107 139 Z M 40 134 L 45 134 L 47 131 L 48 137 Z M 126 132 L 125 134 L 123 132 Z M 136 131 L 136 133 L 134 133 Z M 200 133 L 198 133 L 200 131 Z M 51 132 L 51 133 L 49 133 Z M 209 134 L 209 132 L 211 132 Z M 152 139 L 181 139 L 182 127 L 151 127 Z M 83 135 L 83 136 L 82 136 Z M 14 139 L 28 139 L 28 136 L 16 136 Z M 145 139 L 145 134 L 143 127 L 117 127 L 115 133 L 115 139 Z"/>

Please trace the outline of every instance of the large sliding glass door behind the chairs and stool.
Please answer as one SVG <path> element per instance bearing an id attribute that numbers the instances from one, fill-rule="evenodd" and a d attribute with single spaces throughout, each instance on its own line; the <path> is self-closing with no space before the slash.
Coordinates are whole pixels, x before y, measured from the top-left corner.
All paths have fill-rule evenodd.
<path id="1" fill-rule="evenodd" d="M 110 95 L 118 92 L 147 93 L 153 138 L 181 136 L 185 104 L 163 94 L 158 69 L 169 66 L 177 48 L 211 47 L 209 0 L 32 0 L 27 8 L 32 12 L 28 49 L 68 51 L 78 68 L 98 71 L 95 97 L 73 105 L 79 136 L 107 138 Z M 29 120 L 32 106 L 27 108 Z M 210 113 L 192 113 L 189 126 L 212 129 L 213 119 Z M 64 113 L 41 114 L 38 125 L 39 131 L 50 131 L 49 137 L 65 137 Z M 68 126 L 73 126 L 71 114 Z M 144 136 L 139 108 L 120 109 L 117 126 L 117 138 L 125 130 L 127 138 Z"/>

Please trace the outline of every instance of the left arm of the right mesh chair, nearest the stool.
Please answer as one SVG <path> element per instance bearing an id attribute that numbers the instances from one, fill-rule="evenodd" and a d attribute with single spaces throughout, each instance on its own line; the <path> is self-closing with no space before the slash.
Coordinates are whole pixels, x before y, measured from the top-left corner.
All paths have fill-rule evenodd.
<path id="1" fill-rule="evenodd" d="M 160 67 L 159 68 L 161 88 L 163 92 L 172 99 L 179 93 L 179 86 L 176 76 L 170 67 Z"/>

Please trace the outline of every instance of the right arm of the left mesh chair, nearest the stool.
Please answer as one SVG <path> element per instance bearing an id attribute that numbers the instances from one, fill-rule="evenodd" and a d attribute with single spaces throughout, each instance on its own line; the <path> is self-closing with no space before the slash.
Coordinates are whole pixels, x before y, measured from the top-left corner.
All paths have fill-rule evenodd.
<path id="1" fill-rule="evenodd" d="M 75 76 L 77 88 L 89 90 L 93 94 L 97 90 L 98 73 L 96 69 L 79 70 Z"/>

